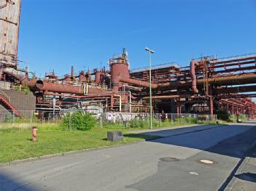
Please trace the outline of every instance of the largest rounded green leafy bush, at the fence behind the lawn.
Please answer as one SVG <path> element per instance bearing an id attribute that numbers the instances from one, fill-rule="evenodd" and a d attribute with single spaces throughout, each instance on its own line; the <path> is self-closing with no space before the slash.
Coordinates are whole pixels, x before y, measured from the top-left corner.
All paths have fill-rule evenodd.
<path id="1" fill-rule="evenodd" d="M 82 110 L 75 111 L 74 113 L 67 113 L 62 118 L 63 127 L 78 130 L 89 130 L 96 126 L 96 118 L 90 113 L 83 113 Z"/>

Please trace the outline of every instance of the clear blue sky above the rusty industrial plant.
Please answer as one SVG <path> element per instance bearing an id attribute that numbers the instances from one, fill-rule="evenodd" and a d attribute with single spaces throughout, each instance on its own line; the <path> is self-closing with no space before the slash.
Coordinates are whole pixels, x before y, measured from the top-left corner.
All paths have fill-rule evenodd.
<path id="1" fill-rule="evenodd" d="M 130 68 L 256 52 L 255 0 L 22 0 L 18 55 L 36 75 L 107 65 L 122 47 Z"/>

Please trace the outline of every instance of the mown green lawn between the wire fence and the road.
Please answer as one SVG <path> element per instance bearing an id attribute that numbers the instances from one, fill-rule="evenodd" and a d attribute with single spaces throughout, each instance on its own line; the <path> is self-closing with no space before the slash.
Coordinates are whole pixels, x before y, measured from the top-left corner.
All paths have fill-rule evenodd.
<path id="1" fill-rule="evenodd" d="M 61 131 L 58 126 L 42 126 L 38 130 L 38 141 L 31 142 L 31 131 L 23 129 L 0 130 L 0 163 L 24 158 L 39 157 L 71 150 L 98 148 L 110 145 L 127 144 L 144 139 L 158 138 L 143 134 L 128 134 L 124 131 L 123 142 L 106 141 L 106 128 L 88 131 Z M 49 130 L 52 129 L 52 130 Z M 110 129 L 120 130 L 120 129 Z M 122 129 L 124 130 L 124 129 Z"/>

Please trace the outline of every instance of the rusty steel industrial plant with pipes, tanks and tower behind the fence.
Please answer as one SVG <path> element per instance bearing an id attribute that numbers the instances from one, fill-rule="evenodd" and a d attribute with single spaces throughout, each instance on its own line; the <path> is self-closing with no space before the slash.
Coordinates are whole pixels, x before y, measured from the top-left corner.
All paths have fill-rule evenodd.
<path id="1" fill-rule="evenodd" d="M 28 86 L 36 96 L 36 110 L 59 110 L 80 107 L 90 110 L 148 112 L 149 68 L 129 70 L 128 54 L 109 60 L 105 68 L 71 73 L 63 77 L 47 73 L 45 78 L 29 78 L 28 71 L 18 68 L 18 28 L 20 0 L 0 0 L 0 66 L 1 81 Z M 158 113 L 209 112 L 255 114 L 256 54 L 218 59 L 201 57 L 187 67 L 174 62 L 152 67 L 153 110 Z M 246 94 L 241 94 L 246 93 Z M 251 92 L 251 94 L 248 94 Z M 11 100 L 0 101 L 7 109 L 18 111 Z M 172 106 L 171 106 L 172 105 Z M 182 106 L 185 106 L 182 108 Z M 94 110 L 95 108 L 94 107 Z M 173 110 L 175 108 L 175 111 Z"/>

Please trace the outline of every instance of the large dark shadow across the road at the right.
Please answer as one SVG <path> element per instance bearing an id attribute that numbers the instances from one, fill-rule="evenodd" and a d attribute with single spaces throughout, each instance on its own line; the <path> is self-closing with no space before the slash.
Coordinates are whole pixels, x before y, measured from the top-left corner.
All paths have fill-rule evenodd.
<path id="1" fill-rule="evenodd" d="M 148 141 L 206 150 L 211 153 L 242 158 L 247 153 L 249 146 L 256 140 L 255 126 L 206 126 L 203 129 L 198 127 L 201 126 L 155 131 L 152 135 L 160 136 L 160 134 L 166 133 L 170 135 Z M 230 131 L 230 129 L 232 130 Z"/>

